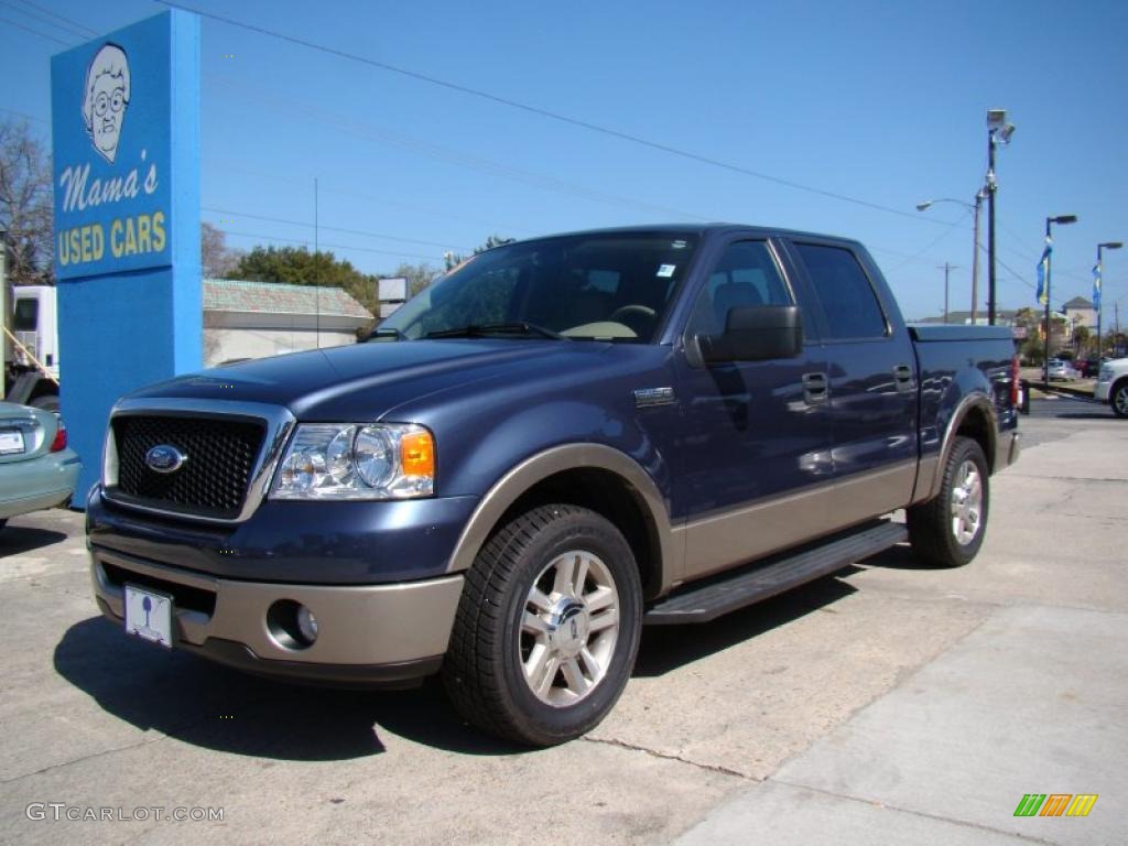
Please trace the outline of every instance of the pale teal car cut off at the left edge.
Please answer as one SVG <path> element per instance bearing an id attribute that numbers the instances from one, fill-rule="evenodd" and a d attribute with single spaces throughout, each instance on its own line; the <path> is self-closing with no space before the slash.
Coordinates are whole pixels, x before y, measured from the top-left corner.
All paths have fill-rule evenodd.
<path id="1" fill-rule="evenodd" d="M 68 502 L 80 468 L 62 417 L 0 403 L 0 529 L 10 517 Z"/>

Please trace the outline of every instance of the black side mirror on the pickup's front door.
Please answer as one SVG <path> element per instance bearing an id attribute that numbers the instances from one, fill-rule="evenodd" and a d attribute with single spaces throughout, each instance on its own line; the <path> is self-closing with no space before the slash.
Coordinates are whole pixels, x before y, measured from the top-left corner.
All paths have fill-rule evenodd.
<path id="1" fill-rule="evenodd" d="M 797 306 L 737 306 L 724 332 L 698 335 L 697 345 L 707 364 L 794 359 L 803 350 L 803 320 Z"/>

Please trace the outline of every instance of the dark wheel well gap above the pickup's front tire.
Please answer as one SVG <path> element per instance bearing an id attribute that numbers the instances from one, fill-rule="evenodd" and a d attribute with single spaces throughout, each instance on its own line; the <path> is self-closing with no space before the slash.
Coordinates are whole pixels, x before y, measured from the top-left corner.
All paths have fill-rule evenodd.
<path id="1" fill-rule="evenodd" d="M 578 468 L 541 479 L 502 515 L 499 526 L 537 505 L 559 502 L 591 509 L 610 520 L 634 553 L 643 596 L 656 596 L 662 583 L 662 555 L 658 527 L 642 496 L 622 476 L 610 470 Z"/>

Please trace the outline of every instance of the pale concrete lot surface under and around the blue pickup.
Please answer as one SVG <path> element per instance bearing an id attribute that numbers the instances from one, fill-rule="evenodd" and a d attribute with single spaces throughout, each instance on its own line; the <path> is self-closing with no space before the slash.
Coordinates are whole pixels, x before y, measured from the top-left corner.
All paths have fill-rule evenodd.
<path id="1" fill-rule="evenodd" d="M 81 515 L 16 518 L 0 843 L 1122 843 L 1128 422 L 1047 399 L 1023 430 L 970 566 L 896 548 L 649 629 L 615 713 L 543 751 L 434 686 L 292 688 L 127 640 L 95 613 Z M 1015 818 L 1031 792 L 1100 799 Z M 67 819 L 91 812 L 113 819 Z"/>

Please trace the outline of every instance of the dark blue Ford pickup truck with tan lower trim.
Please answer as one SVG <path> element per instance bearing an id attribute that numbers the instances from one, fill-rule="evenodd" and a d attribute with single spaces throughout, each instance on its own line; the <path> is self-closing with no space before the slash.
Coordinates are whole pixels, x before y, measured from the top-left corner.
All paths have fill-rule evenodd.
<path id="1" fill-rule="evenodd" d="M 558 743 L 614 706 L 644 624 L 902 541 L 971 561 L 1019 452 L 1016 367 L 1005 329 L 906 326 L 852 240 L 511 244 L 367 343 L 123 398 L 87 503 L 95 596 L 252 672 L 441 673 L 476 725 Z"/>

